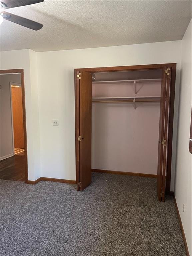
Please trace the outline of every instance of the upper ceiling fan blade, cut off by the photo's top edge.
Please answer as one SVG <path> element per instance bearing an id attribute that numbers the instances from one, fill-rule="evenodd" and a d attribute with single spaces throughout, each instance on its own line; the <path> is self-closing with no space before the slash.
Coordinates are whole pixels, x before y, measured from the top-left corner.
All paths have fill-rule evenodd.
<path id="1" fill-rule="evenodd" d="M 2 0 L 0 1 L 0 8 L 3 9 L 8 9 L 8 8 L 14 8 L 14 7 L 19 7 L 19 6 L 25 6 L 29 4 L 37 4 L 41 3 L 44 0 Z"/>

